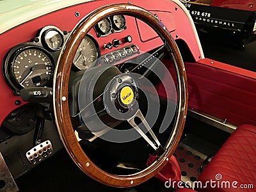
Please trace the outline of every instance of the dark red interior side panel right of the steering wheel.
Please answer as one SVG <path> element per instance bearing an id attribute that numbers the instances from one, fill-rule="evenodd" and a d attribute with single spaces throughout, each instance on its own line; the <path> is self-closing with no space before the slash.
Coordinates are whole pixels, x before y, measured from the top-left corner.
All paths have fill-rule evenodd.
<path id="1" fill-rule="evenodd" d="M 236 125 L 256 125 L 255 72 L 223 63 L 214 67 L 202 63 L 185 63 L 185 67 L 189 107 L 222 119 L 227 118 L 228 122 Z M 169 67 L 169 70 L 171 74 L 175 73 L 173 67 Z M 162 97 L 166 97 L 163 85 L 157 87 L 157 92 Z"/>

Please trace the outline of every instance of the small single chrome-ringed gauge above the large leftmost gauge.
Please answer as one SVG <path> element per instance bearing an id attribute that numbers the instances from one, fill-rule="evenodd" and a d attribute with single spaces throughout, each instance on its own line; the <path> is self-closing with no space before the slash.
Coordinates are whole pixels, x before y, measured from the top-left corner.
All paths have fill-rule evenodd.
<path id="1" fill-rule="evenodd" d="M 58 51 L 63 45 L 63 35 L 56 29 L 45 31 L 44 42 L 52 51 Z"/>

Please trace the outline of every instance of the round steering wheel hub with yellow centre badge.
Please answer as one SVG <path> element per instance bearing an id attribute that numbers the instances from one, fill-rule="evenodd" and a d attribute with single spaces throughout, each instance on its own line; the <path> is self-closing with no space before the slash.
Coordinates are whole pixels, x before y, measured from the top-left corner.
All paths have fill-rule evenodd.
<path id="1" fill-rule="evenodd" d="M 103 98 L 106 111 L 113 118 L 132 118 L 139 109 L 138 83 L 130 74 L 119 74 L 108 83 Z"/>

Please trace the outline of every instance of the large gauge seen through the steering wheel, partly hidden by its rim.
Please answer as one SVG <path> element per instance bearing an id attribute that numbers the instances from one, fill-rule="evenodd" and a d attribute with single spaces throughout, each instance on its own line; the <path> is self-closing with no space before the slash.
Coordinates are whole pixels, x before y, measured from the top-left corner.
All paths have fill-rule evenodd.
<path id="1" fill-rule="evenodd" d="M 93 61 L 100 57 L 99 44 L 92 35 L 84 36 L 79 45 L 73 63 L 79 70 L 87 69 Z"/>

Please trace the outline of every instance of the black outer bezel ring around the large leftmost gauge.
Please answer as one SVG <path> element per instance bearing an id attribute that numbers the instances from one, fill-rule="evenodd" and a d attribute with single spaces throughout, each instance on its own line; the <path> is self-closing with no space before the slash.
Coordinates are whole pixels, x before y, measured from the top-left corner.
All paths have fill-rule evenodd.
<path id="1" fill-rule="evenodd" d="M 20 84 L 19 81 L 17 81 L 17 79 L 16 79 L 16 77 L 13 73 L 13 67 L 12 66 L 13 66 L 13 62 L 14 62 L 15 58 L 20 54 L 20 52 L 25 51 L 26 49 L 37 49 L 39 51 L 42 51 L 49 58 L 49 60 L 51 60 L 52 67 L 53 67 L 52 70 L 54 70 L 55 63 L 56 63 L 52 54 L 49 51 L 44 49 L 44 47 L 42 47 L 42 46 L 36 45 L 33 42 L 19 44 L 19 45 L 13 47 L 12 49 L 10 49 L 10 51 L 8 52 L 6 57 L 4 58 L 3 75 L 4 75 L 4 79 L 6 80 L 6 82 L 13 89 L 15 95 L 19 95 L 19 91 L 22 88 L 24 88 L 24 86 L 22 84 Z M 53 73 L 51 75 L 51 79 L 49 79 L 49 83 L 45 84 L 44 86 L 49 86 L 49 87 L 52 86 L 52 83 L 51 83 L 52 82 L 52 76 L 53 76 Z"/>

